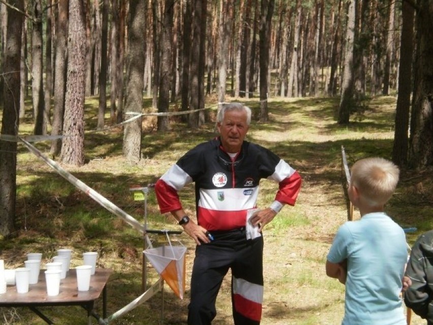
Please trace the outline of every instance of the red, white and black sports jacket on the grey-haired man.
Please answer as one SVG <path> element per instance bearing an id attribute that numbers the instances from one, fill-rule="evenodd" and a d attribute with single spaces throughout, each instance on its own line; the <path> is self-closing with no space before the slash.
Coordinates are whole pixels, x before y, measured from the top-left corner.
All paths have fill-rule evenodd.
<path id="1" fill-rule="evenodd" d="M 245 226 L 246 211 L 256 208 L 261 179 L 279 183 L 275 200 L 294 205 L 301 177 L 264 147 L 243 141 L 231 159 L 220 138 L 197 145 L 158 180 L 155 191 L 161 213 L 182 209 L 177 192 L 195 182 L 197 221 L 207 230 Z"/>

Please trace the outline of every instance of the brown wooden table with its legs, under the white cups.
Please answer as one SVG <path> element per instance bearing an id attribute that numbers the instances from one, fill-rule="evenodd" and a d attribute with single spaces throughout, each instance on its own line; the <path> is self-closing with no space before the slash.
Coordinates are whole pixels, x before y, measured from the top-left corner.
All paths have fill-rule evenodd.
<path id="1" fill-rule="evenodd" d="M 90 278 L 88 291 L 78 291 L 75 269 L 70 269 L 65 279 L 60 280 L 58 296 L 47 296 L 45 270 L 39 273 L 39 282 L 30 284 L 27 293 L 17 293 L 16 286 L 8 286 L 7 292 L 0 294 L 0 307 L 28 307 L 48 324 L 54 324 L 37 307 L 44 306 L 81 306 L 87 311 L 87 321 L 91 324 L 91 317 L 100 320 L 101 317 L 93 310 L 95 301 L 103 295 L 103 317 L 107 317 L 106 284 L 112 270 L 96 269 Z"/>

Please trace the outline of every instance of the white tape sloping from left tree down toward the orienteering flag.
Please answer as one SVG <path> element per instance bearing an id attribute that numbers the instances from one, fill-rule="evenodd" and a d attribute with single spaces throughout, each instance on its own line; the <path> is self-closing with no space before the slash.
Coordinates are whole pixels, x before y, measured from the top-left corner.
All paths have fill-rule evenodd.
<path id="1" fill-rule="evenodd" d="M 139 230 L 141 233 L 144 232 L 144 226 L 138 222 L 136 219 L 131 217 L 129 214 L 127 214 L 125 211 L 118 208 L 117 205 L 113 204 L 111 201 L 106 199 L 104 196 L 99 194 L 94 189 L 88 187 L 86 184 L 81 182 L 79 179 L 77 179 L 74 175 L 63 169 L 61 166 L 59 166 L 55 161 L 51 160 L 48 157 L 45 157 L 36 147 L 34 147 L 32 144 L 24 140 L 23 138 L 19 138 L 27 147 L 27 149 L 32 152 L 35 156 L 41 158 L 47 165 L 52 167 L 54 170 L 57 171 L 60 176 L 62 176 L 64 179 L 66 179 L 69 183 L 74 185 L 79 190 L 83 191 L 85 194 L 87 194 L 89 197 L 94 199 L 96 202 L 101 204 L 103 208 L 107 209 L 108 211 L 115 214 L 117 217 L 123 219 L 126 223 L 134 227 L 135 229 Z"/>

